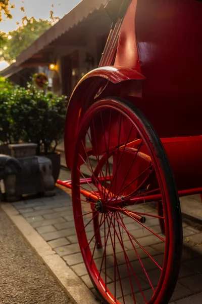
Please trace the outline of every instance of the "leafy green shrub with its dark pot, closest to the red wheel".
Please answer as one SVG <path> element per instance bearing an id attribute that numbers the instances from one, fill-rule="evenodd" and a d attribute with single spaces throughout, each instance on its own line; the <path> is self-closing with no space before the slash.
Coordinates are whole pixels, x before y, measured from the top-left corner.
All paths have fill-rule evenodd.
<path id="1" fill-rule="evenodd" d="M 31 99 L 23 115 L 23 140 L 37 143 L 37 155 L 51 159 L 56 181 L 60 173 L 60 153 L 56 148 L 64 132 L 66 96 L 44 94 L 31 84 L 27 93 Z"/>

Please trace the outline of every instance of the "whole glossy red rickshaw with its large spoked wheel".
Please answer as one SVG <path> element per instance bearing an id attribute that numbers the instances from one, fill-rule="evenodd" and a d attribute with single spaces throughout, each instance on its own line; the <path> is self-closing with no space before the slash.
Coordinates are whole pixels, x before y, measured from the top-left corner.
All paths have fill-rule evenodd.
<path id="1" fill-rule="evenodd" d="M 67 166 L 81 253 L 107 303 L 166 304 L 179 197 L 202 193 L 202 3 L 110 0 L 99 67 L 69 101 Z"/>

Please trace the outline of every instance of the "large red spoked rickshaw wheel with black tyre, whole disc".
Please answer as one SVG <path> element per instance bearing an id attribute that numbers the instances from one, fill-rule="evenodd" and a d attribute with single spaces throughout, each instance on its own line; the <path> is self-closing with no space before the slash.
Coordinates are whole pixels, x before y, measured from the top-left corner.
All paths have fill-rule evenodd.
<path id="1" fill-rule="evenodd" d="M 114 97 L 95 102 L 79 126 L 72 202 L 90 279 L 107 303 L 166 304 L 179 274 L 182 220 L 161 140 L 139 109 Z"/>

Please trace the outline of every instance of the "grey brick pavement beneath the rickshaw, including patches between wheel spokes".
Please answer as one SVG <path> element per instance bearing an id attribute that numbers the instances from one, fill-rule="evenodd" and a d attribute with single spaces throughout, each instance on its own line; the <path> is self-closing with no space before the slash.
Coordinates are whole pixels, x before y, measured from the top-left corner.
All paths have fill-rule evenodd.
<path id="1" fill-rule="evenodd" d="M 63 172 L 62 178 L 68 179 L 67 172 Z M 79 244 L 77 241 L 75 224 L 73 220 L 71 196 L 61 189 L 57 190 L 57 196 L 53 198 L 41 198 L 33 200 L 25 200 L 14 203 L 13 206 L 27 219 L 27 221 L 36 229 L 36 231 L 43 237 L 43 239 L 59 254 L 69 265 L 69 267 L 83 280 L 88 288 L 96 295 L 93 285 L 88 277 L 83 259 L 80 253 Z M 90 211 L 89 204 L 82 204 L 83 211 L 88 213 Z M 141 206 L 139 211 L 141 211 Z M 149 206 L 146 207 L 147 211 L 150 210 Z M 145 206 L 144 206 L 145 212 Z M 152 213 L 152 211 L 149 211 Z M 89 215 L 91 216 L 91 215 Z M 86 218 L 86 223 L 89 218 Z M 157 218 L 151 218 L 148 223 L 153 230 L 161 235 L 159 222 Z M 141 240 L 141 245 L 146 248 L 150 255 L 154 256 L 159 264 L 163 261 L 163 246 L 160 239 L 153 236 L 149 236 L 146 230 L 143 231 L 139 224 L 131 225 L 130 218 L 127 220 L 127 229 L 132 230 L 132 234 L 136 236 L 137 240 Z M 133 265 L 136 267 L 139 282 L 142 284 L 142 288 L 146 289 L 146 297 L 150 294 L 149 286 L 146 282 L 144 274 L 141 273 L 142 268 L 138 269 L 139 261 L 134 256 L 134 250 L 131 248 L 131 243 L 125 236 L 125 231 L 122 231 L 123 244 L 128 256 L 131 257 Z M 181 271 L 178 279 L 178 283 L 171 302 L 177 304 L 199 304 L 202 303 L 202 231 L 187 224 L 183 223 L 183 236 L 184 246 L 182 255 Z M 93 227 L 88 226 L 87 238 L 90 240 L 93 237 Z M 104 240 L 104 227 L 101 227 L 101 237 Z M 113 237 L 113 233 L 112 233 Z M 123 250 L 115 241 L 117 263 L 119 264 L 120 274 L 124 287 L 124 296 L 127 299 L 126 303 L 134 303 L 131 292 L 128 287 L 128 274 L 125 266 L 125 259 Z M 93 248 L 94 245 L 92 243 Z M 141 248 L 139 248 L 141 249 Z M 139 250 L 138 249 L 138 250 Z M 97 249 L 96 249 L 97 250 Z M 102 251 L 95 250 L 94 258 L 97 267 L 102 264 Z M 100 249 L 99 249 L 100 250 Z M 146 269 L 149 272 L 149 277 L 152 278 L 152 282 L 155 286 L 157 284 L 160 273 L 154 265 L 150 264 L 149 258 L 144 252 L 139 251 L 140 258 L 146 265 Z M 108 246 L 107 249 L 107 272 L 106 279 L 108 282 L 108 288 L 114 290 L 114 268 L 113 268 L 113 250 Z M 117 276 L 117 274 L 116 274 Z M 120 297 L 120 288 L 117 287 L 117 297 Z M 135 294 L 139 304 L 145 303 L 141 298 L 141 293 Z"/>

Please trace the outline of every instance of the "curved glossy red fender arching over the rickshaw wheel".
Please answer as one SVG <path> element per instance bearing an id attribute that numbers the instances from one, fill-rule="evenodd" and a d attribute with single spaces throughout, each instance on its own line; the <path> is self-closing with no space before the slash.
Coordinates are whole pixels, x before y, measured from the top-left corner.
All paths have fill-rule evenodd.
<path id="1" fill-rule="evenodd" d="M 106 66 L 90 71 L 80 80 L 69 100 L 66 113 L 64 139 L 66 163 L 69 168 L 72 167 L 74 141 L 79 122 L 86 109 L 98 97 L 125 96 L 124 91 L 127 91 L 127 94 L 130 91 L 130 96 L 141 97 L 141 82 L 144 79 L 145 77 L 136 70 Z M 127 85 L 129 83 L 130 90 Z"/>

